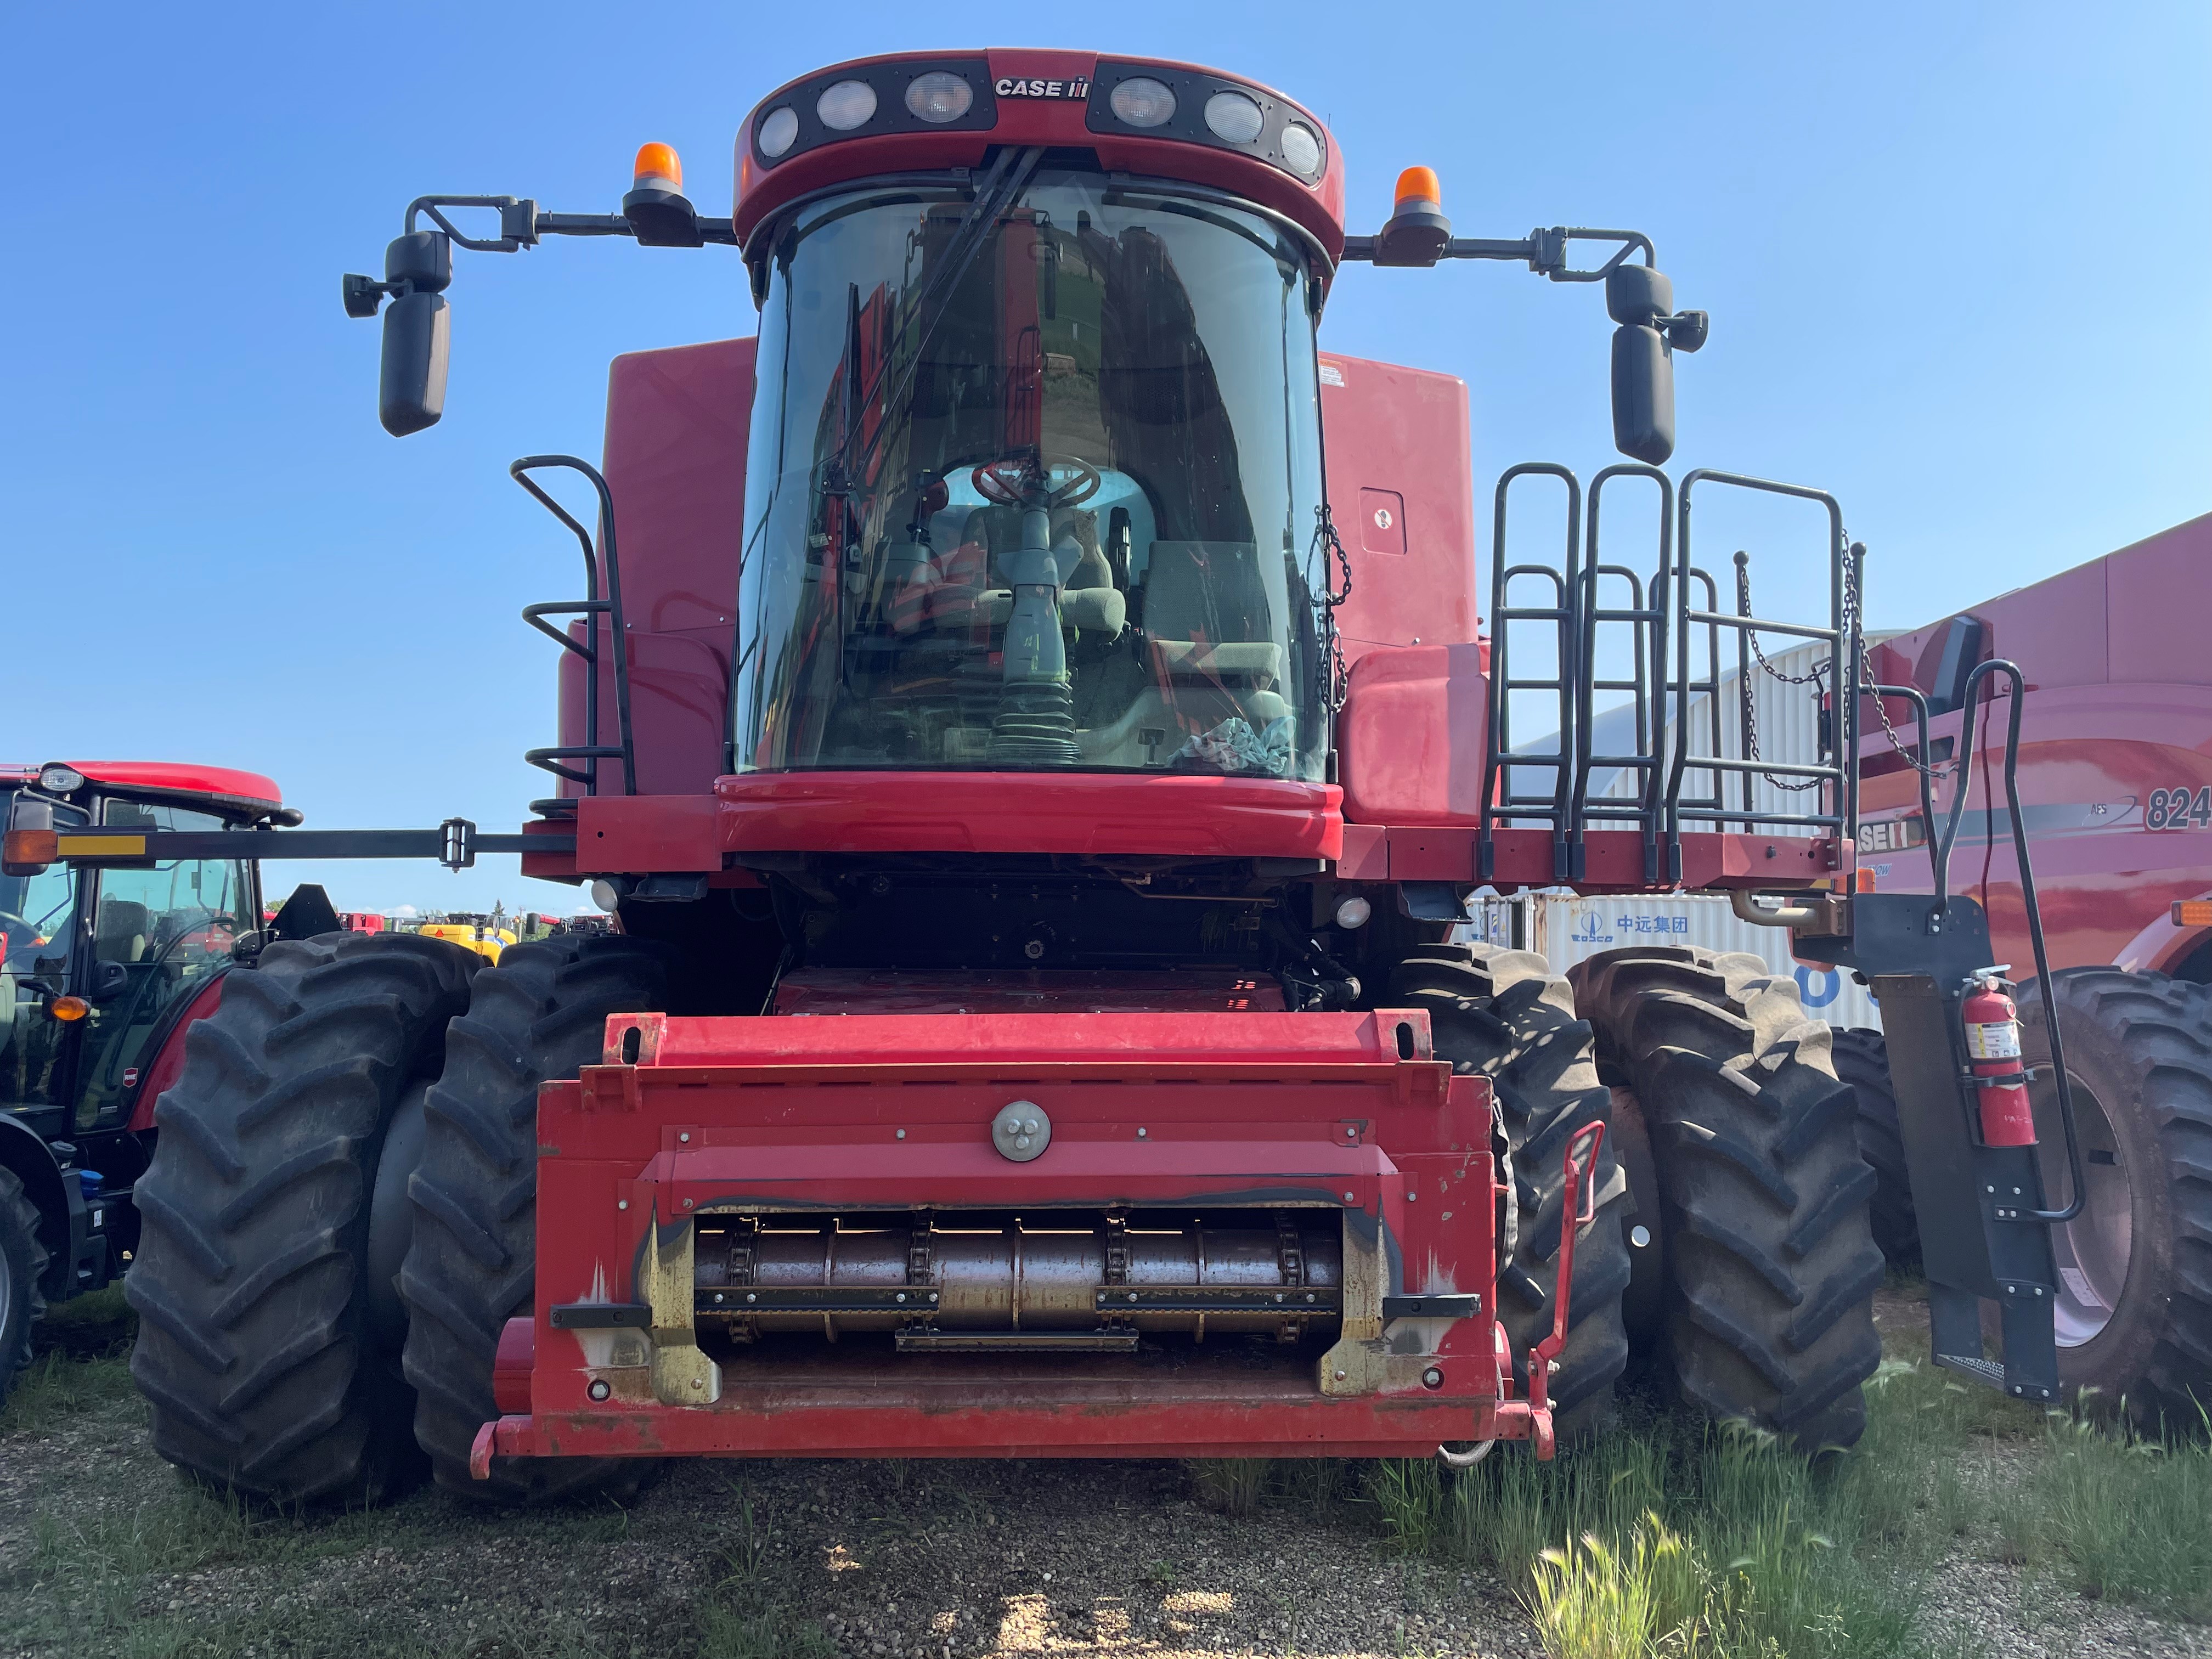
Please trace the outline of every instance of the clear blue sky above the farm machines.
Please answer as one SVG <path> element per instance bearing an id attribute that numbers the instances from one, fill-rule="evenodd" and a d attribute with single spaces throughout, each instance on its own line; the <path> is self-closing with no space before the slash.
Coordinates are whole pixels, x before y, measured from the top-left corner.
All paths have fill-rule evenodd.
<path id="1" fill-rule="evenodd" d="M 752 327 L 728 252 L 462 254 L 449 414 L 396 442 L 338 274 L 427 190 L 611 210 L 644 139 L 728 212 L 745 108 L 869 51 L 1212 62 L 1329 119 L 1356 228 L 1420 161 L 1460 234 L 1650 232 L 1714 319 L 1679 465 L 1836 491 L 1878 626 L 2212 509 L 2201 0 L 38 7 L 4 40 L 0 757 L 246 765 L 321 827 L 518 823 L 553 650 L 515 613 L 575 575 L 504 465 L 597 456 L 613 354 Z M 1467 378 L 1478 500 L 1610 458 L 1606 334 L 1511 265 L 1354 268 L 1323 325 Z M 345 909 L 573 902 L 511 860 L 312 874 Z"/>

